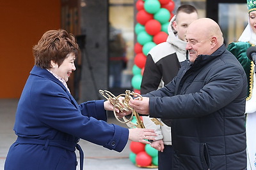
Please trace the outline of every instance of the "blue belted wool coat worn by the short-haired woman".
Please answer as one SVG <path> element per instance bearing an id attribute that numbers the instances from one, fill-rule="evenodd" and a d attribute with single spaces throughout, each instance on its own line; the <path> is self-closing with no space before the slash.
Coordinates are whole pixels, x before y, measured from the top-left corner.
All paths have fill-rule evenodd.
<path id="1" fill-rule="evenodd" d="M 106 123 L 103 102 L 78 105 L 49 71 L 34 66 L 19 100 L 14 125 L 18 138 L 4 169 L 76 169 L 79 138 L 121 152 L 129 131 Z"/>

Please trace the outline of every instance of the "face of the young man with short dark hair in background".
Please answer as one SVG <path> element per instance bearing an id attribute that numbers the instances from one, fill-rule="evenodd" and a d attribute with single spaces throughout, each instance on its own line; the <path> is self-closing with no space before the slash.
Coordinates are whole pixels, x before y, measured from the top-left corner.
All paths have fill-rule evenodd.
<path id="1" fill-rule="evenodd" d="M 180 11 L 177 14 L 175 21 L 173 22 L 173 28 L 177 31 L 178 38 L 182 41 L 186 41 L 185 36 L 188 29 L 188 25 L 198 18 L 196 12 L 184 13 Z"/>

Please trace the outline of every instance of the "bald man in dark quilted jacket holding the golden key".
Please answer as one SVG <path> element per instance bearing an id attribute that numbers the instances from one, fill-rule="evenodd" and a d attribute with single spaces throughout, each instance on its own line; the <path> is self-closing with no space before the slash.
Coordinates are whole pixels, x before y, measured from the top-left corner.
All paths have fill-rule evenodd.
<path id="1" fill-rule="evenodd" d="M 162 89 L 131 100 L 138 113 L 172 118 L 173 169 L 246 169 L 243 67 L 210 18 L 186 34 L 189 61 Z"/>

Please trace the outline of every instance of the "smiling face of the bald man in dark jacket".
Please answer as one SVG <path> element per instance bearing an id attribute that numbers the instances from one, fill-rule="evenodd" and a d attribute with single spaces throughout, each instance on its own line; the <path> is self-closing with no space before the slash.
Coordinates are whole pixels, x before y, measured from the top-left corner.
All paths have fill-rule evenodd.
<path id="1" fill-rule="evenodd" d="M 188 42 L 186 50 L 189 52 L 189 61 L 195 62 L 198 55 L 211 55 L 211 39 L 212 36 L 204 34 L 202 29 L 196 27 L 189 27 L 186 34 L 186 41 Z"/>

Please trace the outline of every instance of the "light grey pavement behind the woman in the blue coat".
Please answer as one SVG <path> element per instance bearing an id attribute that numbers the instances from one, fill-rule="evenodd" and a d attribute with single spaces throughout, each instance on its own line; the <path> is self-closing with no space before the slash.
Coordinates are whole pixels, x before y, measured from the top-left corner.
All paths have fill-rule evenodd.
<path id="1" fill-rule="evenodd" d="M 0 169 L 3 169 L 8 149 L 16 139 L 16 135 L 12 129 L 15 121 L 17 103 L 18 99 L 0 99 Z M 115 120 L 114 117 L 110 117 L 108 119 L 108 123 L 126 127 L 126 125 Z M 129 153 L 131 152 L 129 143 L 125 146 L 123 152 L 119 153 L 103 148 L 102 146 L 89 143 L 88 141 L 80 140 L 79 145 L 81 145 L 84 151 L 84 169 L 147 169 L 136 167 L 132 164 L 131 160 L 129 160 Z M 79 153 L 76 153 L 77 156 L 79 156 Z M 79 157 L 77 157 L 77 162 L 79 162 Z M 77 170 L 79 170 L 79 165 L 77 166 Z"/>

